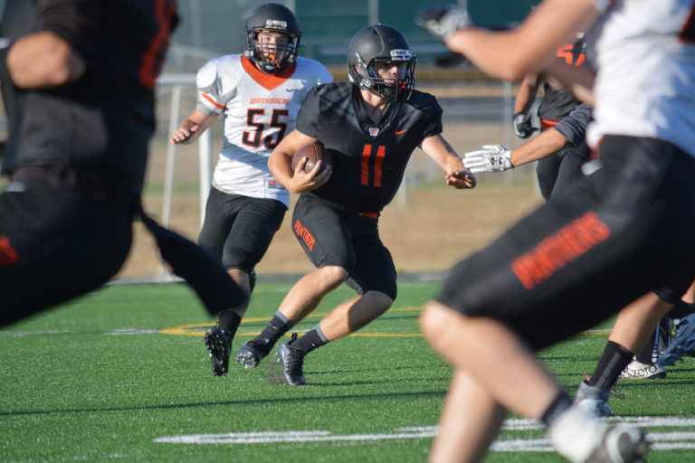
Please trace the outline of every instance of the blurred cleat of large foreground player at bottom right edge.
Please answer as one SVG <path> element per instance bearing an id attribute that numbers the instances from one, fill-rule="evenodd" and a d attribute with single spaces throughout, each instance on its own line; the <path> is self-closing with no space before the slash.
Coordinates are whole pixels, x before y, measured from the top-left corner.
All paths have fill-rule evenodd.
<path id="1" fill-rule="evenodd" d="M 643 463 L 648 451 L 649 444 L 641 430 L 618 423 L 605 429 L 601 443 L 586 463 Z"/>

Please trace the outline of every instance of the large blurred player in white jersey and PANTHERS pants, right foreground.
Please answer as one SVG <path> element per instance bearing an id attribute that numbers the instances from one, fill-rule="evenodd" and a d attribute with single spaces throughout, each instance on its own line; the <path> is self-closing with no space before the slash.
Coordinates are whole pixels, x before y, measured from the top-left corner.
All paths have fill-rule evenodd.
<path id="1" fill-rule="evenodd" d="M 534 353 L 650 291 L 681 298 L 695 277 L 694 11 L 695 0 L 544 0 L 503 32 L 459 9 L 421 14 L 491 76 L 593 89 L 587 141 L 602 165 L 457 264 L 425 307 L 423 333 L 454 370 L 431 461 L 481 460 L 508 411 L 541 420 L 573 462 L 643 461 L 640 430 L 573 406 Z M 578 30 L 595 76 L 553 62 Z"/>

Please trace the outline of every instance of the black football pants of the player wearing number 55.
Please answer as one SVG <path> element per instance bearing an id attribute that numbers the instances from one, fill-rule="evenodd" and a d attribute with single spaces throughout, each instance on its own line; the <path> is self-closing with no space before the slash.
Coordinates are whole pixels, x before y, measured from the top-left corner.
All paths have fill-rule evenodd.
<path id="1" fill-rule="evenodd" d="M 251 273 L 271 245 L 285 211 L 280 201 L 226 194 L 213 186 L 198 243 L 217 256 L 225 269 Z"/>

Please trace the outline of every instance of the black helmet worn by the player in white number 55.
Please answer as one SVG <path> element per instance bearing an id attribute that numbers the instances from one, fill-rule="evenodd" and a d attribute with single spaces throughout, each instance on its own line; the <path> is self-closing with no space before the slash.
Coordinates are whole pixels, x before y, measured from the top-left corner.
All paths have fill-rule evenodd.
<path id="1" fill-rule="evenodd" d="M 274 44 L 257 43 L 256 37 L 261 31 L 286 33 L 287 46 L 281 49 Z M 246 48 L 243 55 L 258 64 L 263 71 L 280 72 L 297 61 L 300 37 L 300 24 L 290 9 L 278 4 L 261 5 L 246 19 Z"/>

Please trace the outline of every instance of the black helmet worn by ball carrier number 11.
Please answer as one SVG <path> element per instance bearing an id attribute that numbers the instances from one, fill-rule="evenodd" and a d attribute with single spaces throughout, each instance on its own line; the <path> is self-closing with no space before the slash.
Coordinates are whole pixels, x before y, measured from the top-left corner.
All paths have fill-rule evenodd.
<path id="1" fill-rule="evenodd" d="M 403 61 L 400 80 L 383 79 L 376 72 L 376 62 Z M 405 35 L 387 24 L 368 25 L 360 29 L 348 44 L 348 77 L 357 87 L 369 90 L 390 101 L 408 99 L 415 86 L 415 61 Z"/>

